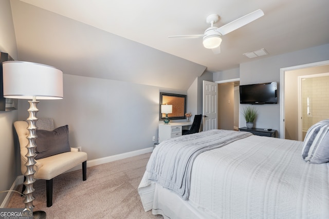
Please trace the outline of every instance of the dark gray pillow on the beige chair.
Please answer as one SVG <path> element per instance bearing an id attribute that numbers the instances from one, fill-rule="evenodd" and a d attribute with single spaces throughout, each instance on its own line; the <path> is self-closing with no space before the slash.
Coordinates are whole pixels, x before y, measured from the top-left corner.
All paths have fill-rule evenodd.
<path id="1" fill-rule="evenodd" d="M 68 125 L 58 127 L 53 131 L 36 130 L 35 160 L 70 151 L 68 143 Z"/>

